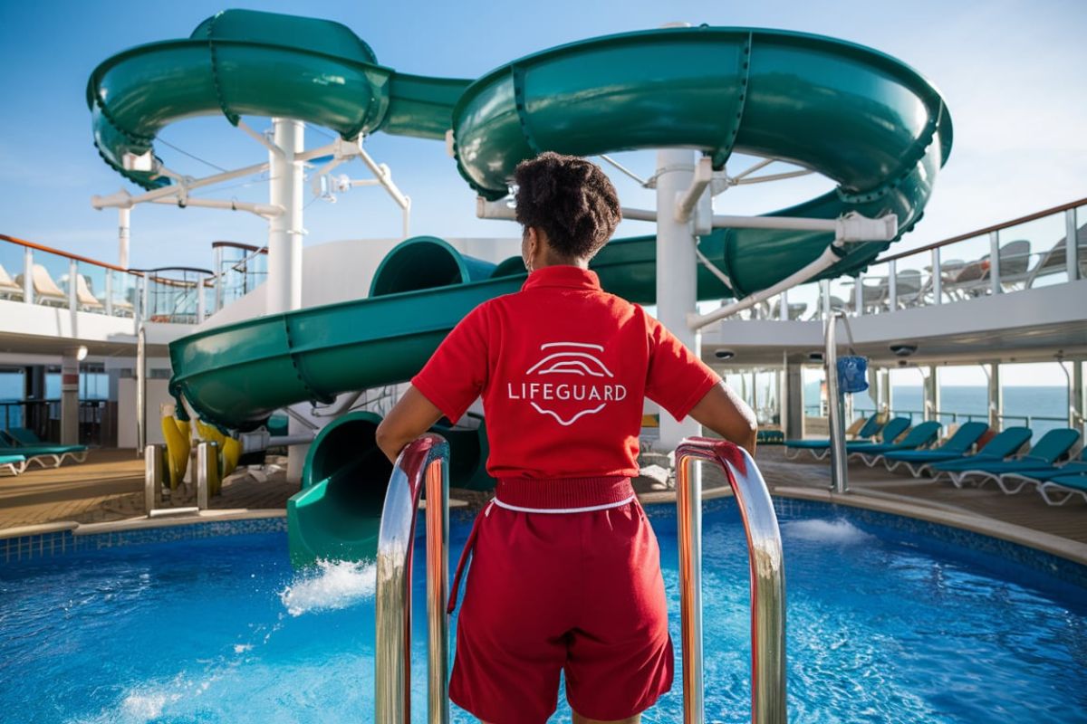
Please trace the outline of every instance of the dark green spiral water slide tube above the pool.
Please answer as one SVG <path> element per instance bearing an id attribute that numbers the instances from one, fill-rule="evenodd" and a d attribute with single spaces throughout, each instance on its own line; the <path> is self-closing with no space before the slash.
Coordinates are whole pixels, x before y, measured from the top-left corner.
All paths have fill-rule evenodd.
<path id="1" fill-rule="evenodd" d="M 825 37 L 748 28 L 595 38 L 523 58 L 472 82 L 382 66 L 365 42 L 337 23 L 235 10 L 204 21 L 189 38 L 104 61 L 91 74 L 87 102 L 102 157 L 147 189 L 171 180 L 132 170 L 136 166 L 126 161 L 153 154 L 155 135 L 170 123 L 210 114 L 232 123 L 241 115 L 279 116 L 345 139 L 377 131 L 441 139 L 451 128 L 461 176 L 491 200 L 507 194 L 521 160 L 545 150 L 595 155 L 686 147 L 712 157 L 716 168 L 733 152 L 758 154 L 837 183 L 775 216 L 895 213 L 901 232 L 921 218 L 951 149 L 942 99 L 902 63 Z M 824 232 L 715 230 L 701 239 L 701 249 L 732 285 L 700 269 L 699 299 L 765 289 L 819 257 L 832 241 Z M 852 243 L 821 276 L 859 271 L 888 243 Z M 637 238 L 611 242 L 594 268 L 609 291 L 652 303 L 654 262 L 654 240 Z M 409 240 L 383 262 L 367 299 L 174 342 L 172 391 L 207 420 L 251 429 L 285 405 L 329 402 L 341 392 L 409 379 L 468 310 L 516 291 L 522 281 L 518 259 L 495 268 L 440 240 Z M 307 503 L 311 488 L 324 485 L 324 492 L 310 493 L 308 505 L 296 496 L 288 511 L 292 531 L 311 528 L 298 523 L 311 516 L 303 508 L 325 506 L 325 530 L 347 530 L 370 515 L 342 512 L 368 507 L 352 507 L 330 490 L 343 480 L 354 487 L 363 480 L 377 485 L 386 472 L 376 470 L 384 462 L 371 455 L 373 419 L 351 420 L 312 446 L 308 485 L 299 496 Z M 473 444 L 480 449 L 478 440 Z M 372 460 L 373 474 L 365 460 Z M 466 479 L 479 481 L 478 465 Z M 340 549 L 352 557 L 367 545 L 360 538 Z M 323 547 L 308 555 L 328 552 Z"/>

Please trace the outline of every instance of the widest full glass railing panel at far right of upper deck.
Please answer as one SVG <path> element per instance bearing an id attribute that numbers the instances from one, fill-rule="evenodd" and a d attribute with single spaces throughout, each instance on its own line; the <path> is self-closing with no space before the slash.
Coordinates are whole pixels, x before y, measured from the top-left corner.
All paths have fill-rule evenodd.
<path id="1" fill-rule="evenodd" d="M 1000 287 L 1014 292 L 1069 280 L 1064 212 L 1001 229 Z"/>

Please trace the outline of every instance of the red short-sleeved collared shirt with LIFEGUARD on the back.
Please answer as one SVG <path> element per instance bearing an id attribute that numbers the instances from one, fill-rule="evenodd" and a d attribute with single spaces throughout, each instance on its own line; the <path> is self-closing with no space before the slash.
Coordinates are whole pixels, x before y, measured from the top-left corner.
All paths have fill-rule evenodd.
<path id="1" fill-rule="evenodd" d="M 682 420 L 721 378 L 573 266 L 533 271 L 453 328 L 412 384 L 455 422 L 483 395 L 495 478 L 638 474 L 642 401 Z"/>

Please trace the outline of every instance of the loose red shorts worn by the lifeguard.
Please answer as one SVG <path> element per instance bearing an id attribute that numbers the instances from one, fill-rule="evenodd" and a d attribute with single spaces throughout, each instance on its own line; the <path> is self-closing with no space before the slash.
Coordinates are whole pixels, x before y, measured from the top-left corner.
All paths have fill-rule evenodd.
<path id="1" fill-rule="evenodd" d="M 473 537 L 452 701 L 492 724 L 542 724 L 564 671 L 570 706 L 608 721 L 648 709 L 671 688 L 660 550 L 637 498 L 569 513 L 492 503 Z"/>

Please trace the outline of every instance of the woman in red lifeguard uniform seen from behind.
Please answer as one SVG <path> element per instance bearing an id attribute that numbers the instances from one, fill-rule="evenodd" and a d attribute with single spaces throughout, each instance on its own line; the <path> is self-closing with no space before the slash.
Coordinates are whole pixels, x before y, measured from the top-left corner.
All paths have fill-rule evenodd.
<path id="1" fill-rule="evenodd" d="M 636 723 L 673 675 L 660 551 L 630 486 L 642 399 L 750 452 L 754 418 L 589 271 L 621 218 L 600 168 L 545 153 L 517 166 L 515 182 L 527 281 L 449 333 L 377 444 L 395 460 L 483 396 L 498 485 L 461 558 L 474 551 L 450 698 L 488 724 L 542 724 L 564 672 L 575 724 Z"/>

